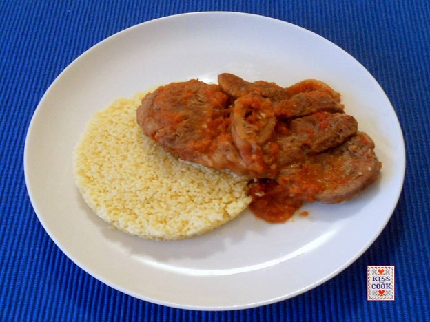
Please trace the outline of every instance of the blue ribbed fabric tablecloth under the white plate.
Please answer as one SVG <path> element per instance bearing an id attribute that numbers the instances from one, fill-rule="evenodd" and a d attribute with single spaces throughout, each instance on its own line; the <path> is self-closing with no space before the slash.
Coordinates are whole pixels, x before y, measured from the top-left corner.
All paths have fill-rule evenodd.
<path id="1" fill-rule="evenodd" d="M 79 54 L 136 23 L 208 10 L 282 19 L 345 49 L 389 96 L 407 147 L 404 190 L 371 248 L 322 286 L 249 310 L 167 308 L 105 286 L 48 237 L 23 178 L 32 114 Z M 430 321 L 429 17 L 428 0 L 0 0 L 0 321 Z M 375 264 L 396 265 L 395 301 L 367 301 Z"/>

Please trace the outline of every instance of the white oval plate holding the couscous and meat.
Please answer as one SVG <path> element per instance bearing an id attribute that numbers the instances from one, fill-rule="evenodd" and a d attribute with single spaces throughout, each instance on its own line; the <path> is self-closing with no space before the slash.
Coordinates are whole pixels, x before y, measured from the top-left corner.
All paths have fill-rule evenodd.
<path id="1" fill-rule="evenodd" d="M 114 98 L 171 81 L 216 81 L 221 72 L 284 86 L 304 78 L 329 83 L 360 130 L 375 140 L 381 180 L 351 202 L 307 205 L 308 217 L 285 224 L 267 224 L 245 211 L 213 233 L 183 241 L 147 241 L 111 230 L 74 186 L 72 150 L 85 123 Z M 333 43 L 267 17 L 201 12 L 136 25 L 77 58 L 37 107 L 24 162 L 41 224 L 90 275 L 154 303 L 232 310 L 306 292 L 364 253 L 396 206 L 405 148 L 387 96 Z"/>

